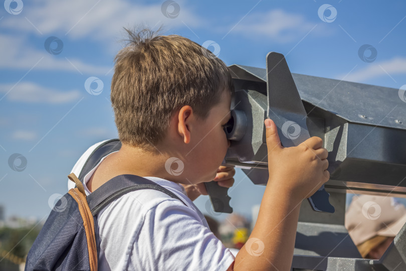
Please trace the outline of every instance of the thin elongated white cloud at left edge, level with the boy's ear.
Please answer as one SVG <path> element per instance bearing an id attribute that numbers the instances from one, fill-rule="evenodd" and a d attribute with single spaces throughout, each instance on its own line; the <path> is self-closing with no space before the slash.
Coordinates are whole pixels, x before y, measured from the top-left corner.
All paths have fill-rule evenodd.
<path id="1" fill-rule="evenodd" d="M 61 104 L 77 101 L 81 97 L 79 90 L 61 91 L 40 86 L 33 82 L 14 84 L 0 84 L 0 93 L 4 93 L 10 101 L 28 103 Z"/>

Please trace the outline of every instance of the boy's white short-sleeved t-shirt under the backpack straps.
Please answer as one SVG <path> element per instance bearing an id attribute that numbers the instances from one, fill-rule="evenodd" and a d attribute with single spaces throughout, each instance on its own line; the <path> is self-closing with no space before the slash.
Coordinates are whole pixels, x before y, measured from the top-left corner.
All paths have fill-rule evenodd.
<path id="1" fill-rule="evenodd" d="M 72 169 L 76 176 L 101 143 L 90 147 L 78 160 Z M 100 163 L 85 176 L 85 184 Z M 183 186 L 157 177 L 144 178 L 174 193 L 187 207 L 152 189 L 129 192 L 110 203 L 97 215 L 98 269 L 227 270 L 235 256 L 210 231 L 204 215 L 187 197 Z M 68 189 L 74 187 L 68 181 Z M 86 185 L 84 188 L 89 195 Z"/>

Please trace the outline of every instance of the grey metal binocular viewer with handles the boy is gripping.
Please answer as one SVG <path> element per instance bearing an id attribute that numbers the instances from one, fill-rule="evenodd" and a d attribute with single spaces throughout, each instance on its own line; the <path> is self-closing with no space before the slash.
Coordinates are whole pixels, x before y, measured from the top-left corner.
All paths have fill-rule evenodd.
<path id="1" fill-rule="evenodd" d="M 329 152 L 330 180 L 308 198 L 313 211 L 334 213 L 325 187 L 406 195 L 406 182 L 398 184 L 406 176 L 404 91 L 400 97 L 400 90 L 291 74 L 279 53 L 269 53 L 266 62 L 266 69 L 229 67 L 236 91 L 225 126 L 231 140 L 226 165 L 241 167 L 254 184 L 267 184 L 264 120 L 269 117 L 282 146 L 317 136 Z M 231 213 L 227 188 L 206 185 L 215 211 Z"/>

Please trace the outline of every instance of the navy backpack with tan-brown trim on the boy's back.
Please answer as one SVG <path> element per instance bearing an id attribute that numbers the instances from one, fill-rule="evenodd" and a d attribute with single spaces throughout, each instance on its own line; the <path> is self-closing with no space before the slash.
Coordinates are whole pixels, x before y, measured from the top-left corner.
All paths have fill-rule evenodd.
<path id="1" fill-rule="evenodd" d="M 180 200 L 166 188 L 140 176 L 119 175 L 86 196 L 83 180 L 106 155 L 118 151 L 118 139 L 100 144 L 88 157 L 76 183 L 59 199 L 31 247 L 25 270 L 97 270 L 100 240 L 97 240 L 97 214 L 122 195 L 140 189 L 154 189 Z"/>

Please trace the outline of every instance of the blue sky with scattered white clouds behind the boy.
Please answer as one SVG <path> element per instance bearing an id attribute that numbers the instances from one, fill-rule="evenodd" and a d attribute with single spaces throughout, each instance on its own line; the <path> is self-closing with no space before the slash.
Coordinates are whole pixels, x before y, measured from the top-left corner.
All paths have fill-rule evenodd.
<path id="1" fill-rule="evenodd" d="M 199 44 L 214 41 L 227 65 L 265 68 L 266 54 L 275 51 L 286 56 L 294 73 L 395 89 L 406 84 L 404 1 L 176 1 L 167 10 L 173 14 L 179 7 L 172 19 L 162 13 L 163 1 L 5 3 L 7 10 L 0 7 L 0 204 L 7 216 L 46 216 L 50 197 L 67 192 L 66 176 L 80 155 L 117 137 L 109 95 L 122 27 L 163 25 L 166 34 Z M 330 8 L 319 16 L 324 4 Z M 369 62 L 359 57 L 364 44 L 376 50 L 376 58 L 371 50 L 361 53 Z M 85 89 L 92 76 L 103 82 L 98 95 Z M 27 159 L 22 171 L 9 166 L 15 153 Z M 249 215 L 264 187 L 244 177 L 238 170 L 231 205 Z M 205 212 L 206 202 L 200 197 L 196 205 Z"/>

